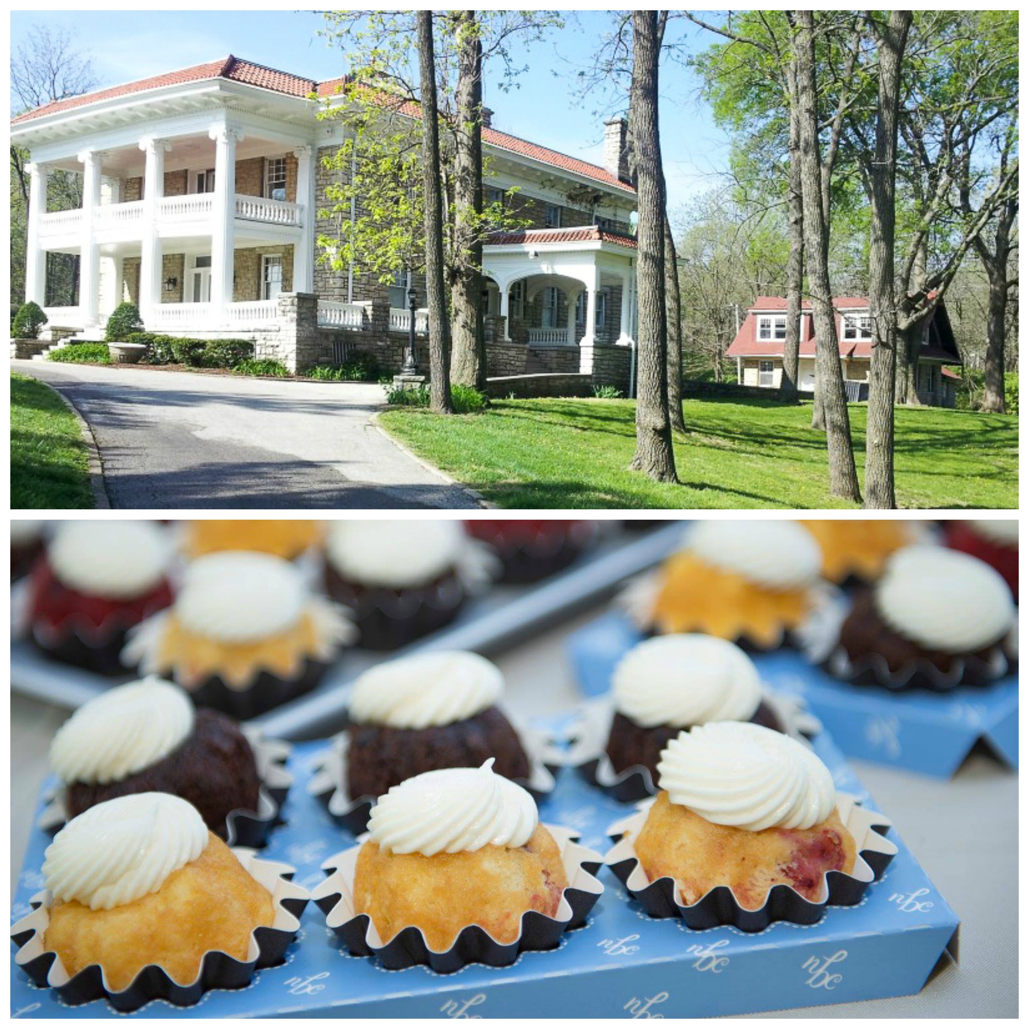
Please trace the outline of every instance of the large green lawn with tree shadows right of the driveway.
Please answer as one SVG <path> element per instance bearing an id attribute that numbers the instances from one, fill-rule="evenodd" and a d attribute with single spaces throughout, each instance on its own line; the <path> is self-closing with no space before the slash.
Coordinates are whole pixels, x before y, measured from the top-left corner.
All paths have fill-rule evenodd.
<path id="1" fill-rule="evenodd" d="M 825 438 L 811 405 L 687 400 L 675 445 L 681 486 L 628 471 L 631 400 L 497 400 L 451 418 L 395 409 L 383 425 L 501 507 L 851 506 L 827 491 Z M 850 409 L 859 474 L 865 407 Z M 898 409 L 897 500 L 903 507 L 1017 507 L 1018 418 Z"/>

